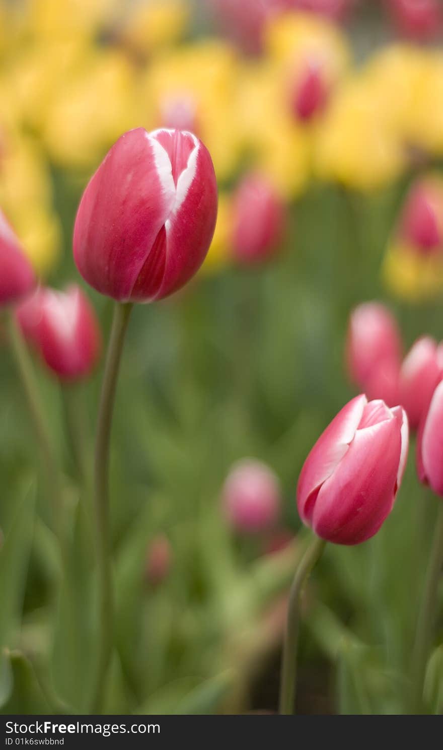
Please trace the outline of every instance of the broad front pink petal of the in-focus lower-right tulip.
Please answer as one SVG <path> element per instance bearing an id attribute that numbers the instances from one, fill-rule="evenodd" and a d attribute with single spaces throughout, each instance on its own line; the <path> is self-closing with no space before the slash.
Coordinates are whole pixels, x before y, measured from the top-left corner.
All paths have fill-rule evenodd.
<path id="1" fill-rule="evenodd" d="M 355 433 L 316 497 L 316 534 L 337 544 L 358 544 L 379 529 L 394 504 L 401 442 L 394 417 Z"/>

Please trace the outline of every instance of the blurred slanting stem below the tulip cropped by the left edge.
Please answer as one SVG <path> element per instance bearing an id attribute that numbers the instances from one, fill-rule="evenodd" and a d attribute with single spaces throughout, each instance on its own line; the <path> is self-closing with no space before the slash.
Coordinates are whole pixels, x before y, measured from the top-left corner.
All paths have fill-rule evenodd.
<path id="1" fill-rule="evenodd" d="M 47 491 L 51 497 L 52 516 L 55 534 L 61 546 L 63 554 L 63 514 L 62 514 L 62 494 L 61 478 L 58 471 L 58 463 L 52 449 L 52 443 L 47 426 L 46 413 L 40 398 L 37 379 L 34 368 L 29 356 L 28 347 L 22 335 L 16 317 L 13 311 L 7 311 L 7 332 L 10 340 L 10 347 L 16 362 L 16 368 L 19 373 L 22 387 L 25 392 L 25 399 L 28 404 L 31 421 L 34 425 L 37 441 L 40 445 L 40 451 L 43 459 L 43 465 L 46 472 Z"/>

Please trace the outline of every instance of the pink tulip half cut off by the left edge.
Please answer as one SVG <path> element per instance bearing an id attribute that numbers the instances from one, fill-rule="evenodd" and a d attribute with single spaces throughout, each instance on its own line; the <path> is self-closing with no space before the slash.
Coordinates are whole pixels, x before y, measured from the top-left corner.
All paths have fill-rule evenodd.
<path id="1" fill-rule="evenodd" d="M 18 302 L 34 289 L 35 284 L 31 263 L 0 211 L 0 306 Z"/>

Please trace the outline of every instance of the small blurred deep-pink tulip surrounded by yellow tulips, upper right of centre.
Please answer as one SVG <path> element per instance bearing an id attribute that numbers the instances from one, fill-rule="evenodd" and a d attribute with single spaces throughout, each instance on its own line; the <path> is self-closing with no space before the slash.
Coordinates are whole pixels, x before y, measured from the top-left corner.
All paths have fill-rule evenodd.
<path id="1" fill-rule="evenodd" d="M 322 65 L 308 62 L 304 71 L 292 81 L 289 104 L 295 118 L 309 121 L 325 109 L 329 97 L 329 86 Z"/>

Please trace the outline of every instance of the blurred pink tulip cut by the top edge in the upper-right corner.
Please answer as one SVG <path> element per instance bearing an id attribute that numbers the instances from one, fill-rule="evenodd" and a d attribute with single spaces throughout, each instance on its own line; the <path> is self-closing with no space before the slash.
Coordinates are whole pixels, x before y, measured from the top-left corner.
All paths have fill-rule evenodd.
<path id="1" fill-rule="evenodd" d="M 385 0 L 392 22 L 400 34 L 415 40 L 430 40 L 442 31 L 439 0 Z"/>

